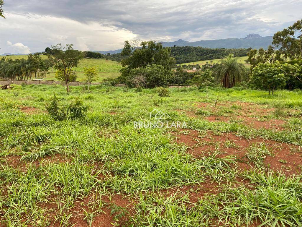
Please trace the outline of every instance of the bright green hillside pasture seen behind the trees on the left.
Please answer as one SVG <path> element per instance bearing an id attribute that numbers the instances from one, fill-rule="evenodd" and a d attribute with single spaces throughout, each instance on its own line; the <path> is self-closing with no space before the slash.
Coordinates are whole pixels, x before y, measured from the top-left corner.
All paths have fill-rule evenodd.
<path id="1" fill-rule="evenodd" d="M 12 56 L 5 56 L 5 58 L 12 58 L 12 59 L 27 59 L 27 55 L 12 55 Z M 42 59 L 47 59 L 46 55 L 41 55 Z M 78 67 L 74 68 L 77 75 L 77 81 L 81 81 L 84 79 L 84 67 L 96 67 L 98 70 L 98 80 L 97 82 L 103 81 L 105 78 L 116 78 L 120 75 L 120 69 L 122 65 L 117 61 L 110 61 L 105 59 L 83 59 L 80 61 Z M 56 80 L 54 69 L 53 71 L 50 69 L 48 74 L 44 80 Z"/>

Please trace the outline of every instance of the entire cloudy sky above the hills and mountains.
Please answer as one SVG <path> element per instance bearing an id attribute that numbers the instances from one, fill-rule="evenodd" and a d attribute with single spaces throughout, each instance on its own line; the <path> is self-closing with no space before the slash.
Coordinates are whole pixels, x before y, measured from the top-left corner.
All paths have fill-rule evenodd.
<path id="1" fill-rule="evenodd" d="M 274 35 L 301 19 L 302 0 L 4 0 L 0 54 L 73 43 L 115 50 L 125 40 L 198 41 Z"/>

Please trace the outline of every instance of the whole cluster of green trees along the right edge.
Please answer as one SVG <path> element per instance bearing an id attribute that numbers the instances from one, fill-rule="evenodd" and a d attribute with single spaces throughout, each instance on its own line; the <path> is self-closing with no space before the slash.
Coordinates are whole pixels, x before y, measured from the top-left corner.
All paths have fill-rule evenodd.
<path id="1" fill-rule="evenodd" d="M 302 89 L 302 19 L 273 36 L 267 50 L 247 53 L 251 88 L 274 93 L 278 88 Z M 279 48 L 279 49 L 277 49 Z"/>

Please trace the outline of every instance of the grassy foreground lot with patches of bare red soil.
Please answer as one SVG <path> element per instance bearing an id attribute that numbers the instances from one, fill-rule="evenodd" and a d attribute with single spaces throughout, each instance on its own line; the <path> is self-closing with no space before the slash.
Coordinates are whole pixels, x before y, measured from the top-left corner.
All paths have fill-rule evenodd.
<path id="1" fill-rule="evenodd" d="M 301 92 L 71 90 L 0 90 L 3 226 L 301 226 Z M 187 127 L 134 128 L 154 108 Z"/>

